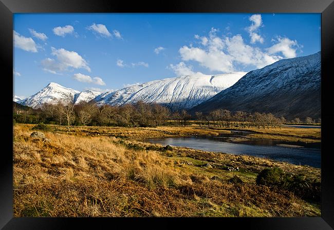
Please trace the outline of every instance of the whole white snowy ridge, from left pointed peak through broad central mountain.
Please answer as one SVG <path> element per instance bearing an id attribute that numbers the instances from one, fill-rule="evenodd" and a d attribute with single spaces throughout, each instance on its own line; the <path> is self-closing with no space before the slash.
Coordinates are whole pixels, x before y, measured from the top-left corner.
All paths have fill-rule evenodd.
<path id="1" fill-rule="evenodd" d="M 43 103 L 54 103 L 58 100 L 78 104 L 81 101 L 94 99 L 98 106 L 103 104 L 121 106 L 141 100 L 147 103 L 160 103 L 164 106 L 187 109 L 232 86 L 245 74 L 246 72 L 184 75 L 137 83 L 133 86 L 105 93 L 89 90 L 80 92 L 50 82 L 39 92 L 19 102 L 32 108 L 39 108 Z"/>

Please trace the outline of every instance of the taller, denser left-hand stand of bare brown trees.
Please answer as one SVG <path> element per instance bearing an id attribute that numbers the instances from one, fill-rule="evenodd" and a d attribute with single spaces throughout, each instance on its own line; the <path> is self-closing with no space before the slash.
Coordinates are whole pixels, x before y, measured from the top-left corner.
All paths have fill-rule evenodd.
<path id="1" fill-rule="evenodd" d="M 68 130 L 71 125 L 156 127 L 166 124 L 170 117 L 168 108 L 141 101 L 119 107 L 98 107 L 94 102 L 58 102 L 43 104 L 41 109 L 45 120 L 65 125 Z"/>

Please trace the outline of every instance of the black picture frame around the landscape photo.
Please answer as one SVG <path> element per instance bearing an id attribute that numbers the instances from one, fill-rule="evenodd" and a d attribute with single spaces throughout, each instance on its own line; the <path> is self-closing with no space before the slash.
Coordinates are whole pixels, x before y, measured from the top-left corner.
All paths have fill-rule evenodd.
<path id="1" fill-rule="evenodd" d="M 156 12 L 156 13 L 321 13 L 321 217 L 296 218 L 13 218 L 12 195 L 12 88 L 10 81 L 13 64 L 13 13 L 106 13 L 106 12 Z M 158 227 L 151 222 L 164 222 L 164 227 L 175 227 L 184 221 L 204 223 L 208 227 L 232 225 L 233 229 L 240 226 L 246 229 L 334 229 L 334 167 L 331 161 L 331 135 L 333 130 L 334 112 L 331 111 L 333 95 L 331 88 L 333 76 L 330 70 L 334 67 L 334 2 L 333 0 L 258 0 L 258 1 L 199 1 L 170 0 L 167 2 L 108 2 L 104 0 L 0 0 L 0 47 L 2 63 L 2 79 L 7 79 L 4 92 L 5 108 L 0 113 L 4 124 L 2 138 L 2 157 L 0 162 L 0 228 L 2 229 L 88 229 L 100 228 L 101 224 L 108 227 L 124 228 L 135 223 L 136 227 Z M 5 126 L 6 125 L 6 126 Z M 149 224 L 149 225 L 147 225 Z M 157 223 L 160 224 L 160 223 Z M 209 225 L 210 224 L 210 225 Z M 145 226 L 144 225 L 144 226 Z M 102 227 L 102 226 L 101 226 Z M 160 226 L 159 226 L 160 227 Z"/>

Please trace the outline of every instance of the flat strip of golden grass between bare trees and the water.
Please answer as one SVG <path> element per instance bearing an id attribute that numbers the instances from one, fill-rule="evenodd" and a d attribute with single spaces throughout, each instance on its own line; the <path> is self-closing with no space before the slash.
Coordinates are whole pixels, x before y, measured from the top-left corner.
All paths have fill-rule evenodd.
<path id="1" fill-rule="evenodd" d="M 33 126 L 33 125 L 31 125 Z M 66 132 L 66 127 L 53 126 L 59 132 Z M 192 124 L 187 127 L 156 127 L 156 128 L 127 128 L 127 127 L 71 127 L 71 134 L 88 135 L 88 136 L 115 136 L 124 139 L 142 140 L 150 138 L 165 138 L 175 136 L 189 135 L 218 135 L 227 133 L 229 130 L 252 131 L 248 138 L 252 139 L 276 139 L 285 141 L 303 141 L 303 142 L 320 142 L 321 129 L 319 128 L 289 128 L 281 129 L 257 129 L 257 128 L 215 128 L 207 126 L 199 127 L 198 124 Z"/>

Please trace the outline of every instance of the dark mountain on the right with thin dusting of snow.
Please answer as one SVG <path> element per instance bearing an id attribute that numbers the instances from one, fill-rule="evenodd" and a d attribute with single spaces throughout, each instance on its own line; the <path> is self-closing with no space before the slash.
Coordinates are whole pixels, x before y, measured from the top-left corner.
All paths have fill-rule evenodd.
<path id="1" fill-rule="evenodd" d="M 190 110 L 271 112 L 320 118 L 321 53 L 284 59 L 242 77 L 232 87 Z"/>

